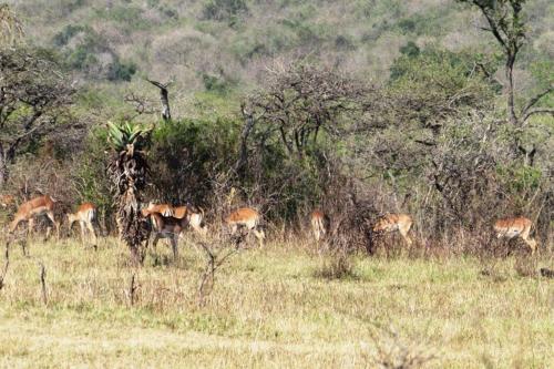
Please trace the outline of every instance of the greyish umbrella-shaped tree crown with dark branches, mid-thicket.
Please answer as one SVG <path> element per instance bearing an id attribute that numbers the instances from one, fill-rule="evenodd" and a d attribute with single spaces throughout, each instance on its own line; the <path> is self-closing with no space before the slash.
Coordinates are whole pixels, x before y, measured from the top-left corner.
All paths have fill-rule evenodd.
<path id="1" fill-rule="evenodd" d="M 267 134 L 278 134 L 287 152 L 299 157 L 320 131 L 339 133 L 340 119 L 359 111 L 366 94 L 361 84 L 337 71 L 301 62 L 269 71 L 266 85 L 243 105 L 245 133 L 261 123 Z"/>

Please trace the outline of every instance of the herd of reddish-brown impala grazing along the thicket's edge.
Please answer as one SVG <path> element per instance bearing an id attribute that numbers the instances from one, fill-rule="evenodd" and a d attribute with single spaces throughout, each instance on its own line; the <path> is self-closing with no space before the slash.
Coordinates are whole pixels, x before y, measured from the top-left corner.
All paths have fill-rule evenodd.
<path id="1" fill-rule="evenodd" d="M 44 195 L 21 204 L 9 226 L 9 233 L 12 235 L 19 224 L 27 222 L 29 235 L 32 232 L 34 219 L 45 215 L 55 227 L 59 237 L 60 225 L 54 219 L 54 203 L 55 201 L 51 196 Z M 0 195 L 0 205 L 2 207 L 14 205 L 14 197 L 11 195 Z M 201 235 L 206 235 L 208 233 L 208 228 L 204 224 L 204 211 L 194 206 L 175 207 L 170 204 L 150 203 L 141 211 L 141 214 L 151 223 L 152 233 L 154 234 L 153 247 L 155 248 L 160 238 L 168 238 L 175 257 L 177 256 L 178 238 L 186 228 L 191 227 Z M 94 244 L 96 243 L 98 235 L 94 225 L 98 219 L 98 211 L 94 204 L 84 203 L 79 206 L 75 213 L 68 214 L 66 216 L 70 228 L 75 222 L 79 223 L 83 243 L 86 232 L 91 234 Z M 260 246 L 263 246 L 266 236 L 260 227 L 260 222 L 261 215 L 250 207 L 238 208 L 224 219 L 230 234 L 235 234 L 239 228 L 243 228 L 246 230 L 247 235 L 250 233 L 254 234 Z M 410 247 L 412 245 L 412 239 L 409 232 L 412 224 L 412 217 L 408 214 L 387 214 L 375 223 L 372 232 L 375 235 L 398 232 Z M 316 209 L 311 213 L 310 225 L 316 242 L 319 242 L 329 233 L 330 219 L 324 212 Z M 493 224 L 493 229 L 497 238 L 512 239 L 521 237 L 523 242 L 529 245 L 531 253 L 534 254 L 537 248 L 537 243 L 530 236 L 532 227 L 533 223 L 526 217 L 499 219 Z M 51 229 L 52 227 L 49 226 L 47 229 L 47 238 Z"/>

